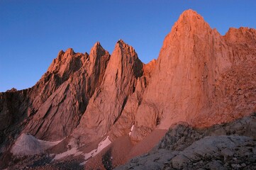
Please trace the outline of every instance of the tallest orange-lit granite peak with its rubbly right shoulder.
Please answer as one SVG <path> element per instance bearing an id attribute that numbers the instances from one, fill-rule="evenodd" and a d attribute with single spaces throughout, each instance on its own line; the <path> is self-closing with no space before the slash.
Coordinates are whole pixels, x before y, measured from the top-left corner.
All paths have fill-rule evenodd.
<path id="1" fill-rule="evenodd" d="M 255 57 L 254 29 L 221 36 L 198 13 L 184 11 L 165 38 L 135 115 L 134 140 L 179 121 L 206 127 L 252 113 Z"/>

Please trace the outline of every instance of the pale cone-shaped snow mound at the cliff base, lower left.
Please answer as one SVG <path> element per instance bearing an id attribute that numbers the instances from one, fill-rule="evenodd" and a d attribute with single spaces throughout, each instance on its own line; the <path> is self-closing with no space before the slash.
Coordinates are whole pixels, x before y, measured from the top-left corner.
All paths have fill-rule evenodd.
<path id="1" fill-rule="evenodd" d="M 46 149 L 57 145 L 61 141 L 62 140 L 49 142 L 45 140 L 38 140 L 33 135 L 23 133 L 14 143 L 11 153 L 15 155 L 42 154 Z"/>

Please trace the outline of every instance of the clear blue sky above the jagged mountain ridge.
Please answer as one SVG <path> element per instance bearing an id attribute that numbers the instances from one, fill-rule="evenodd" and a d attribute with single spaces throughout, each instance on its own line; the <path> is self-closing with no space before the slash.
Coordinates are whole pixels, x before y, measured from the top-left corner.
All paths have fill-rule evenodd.
<path id="1" fill-rule="evenodd" d="M 111 53 L 123 39 L 148 63 L 188 8 L 221 35 L 256 28 L 256 1 L 0 0 L 0 91 L 33 86 L 60 50 L 89 52 L 96 41 Z"/>

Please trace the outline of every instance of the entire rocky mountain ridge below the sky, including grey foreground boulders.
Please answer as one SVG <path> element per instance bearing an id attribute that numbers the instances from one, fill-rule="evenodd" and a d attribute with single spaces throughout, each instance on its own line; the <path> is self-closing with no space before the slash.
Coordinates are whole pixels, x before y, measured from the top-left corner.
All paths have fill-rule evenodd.
<path id="1" fill-rule="evenodd" d="M 61 50 L 0 93 L 0 169 L 255 169 L 255 66 L 255 29 L 220 35 L 192 10 L 148 64 L 123 40 Z"/>

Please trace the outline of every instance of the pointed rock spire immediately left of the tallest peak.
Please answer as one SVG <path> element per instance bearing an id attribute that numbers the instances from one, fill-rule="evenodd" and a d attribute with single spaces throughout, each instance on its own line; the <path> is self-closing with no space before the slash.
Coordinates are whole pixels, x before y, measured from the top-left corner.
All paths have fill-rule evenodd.
<path id="1" fill-rule="evenodd" d="M 126 101 L 142 75 L 143 63 L 130 45 L 119 40 L 109 59 L 104 80 L 91 97 L 79 127 L 75 130 L 80 142 L 104 135 L 118 120 Z M 87 130 L 84 130 L 87 129 Z"/>

